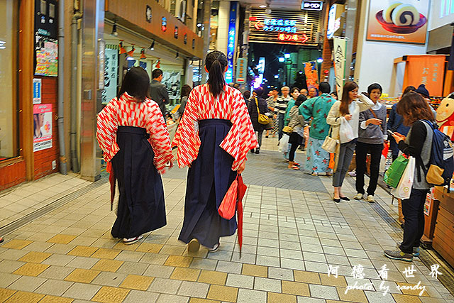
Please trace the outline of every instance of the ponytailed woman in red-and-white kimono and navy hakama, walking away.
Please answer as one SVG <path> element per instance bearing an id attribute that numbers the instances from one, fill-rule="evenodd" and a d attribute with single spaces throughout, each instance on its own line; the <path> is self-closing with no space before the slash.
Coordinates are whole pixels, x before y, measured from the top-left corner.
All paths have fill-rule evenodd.
<path id="1" fill-rule="evenodd" d="M 214 51 L 205 62 L 208 83 L 192 89 L 172 143 L 179 167 L 189 166 L 179 240 L 191 252 L 200 244 L 215 251 L 221 236 L 235 233 L 236 216 L 223 219 L 218 207 L 258 145 L 241 92 L 224 80 L 226 55 Z"/>

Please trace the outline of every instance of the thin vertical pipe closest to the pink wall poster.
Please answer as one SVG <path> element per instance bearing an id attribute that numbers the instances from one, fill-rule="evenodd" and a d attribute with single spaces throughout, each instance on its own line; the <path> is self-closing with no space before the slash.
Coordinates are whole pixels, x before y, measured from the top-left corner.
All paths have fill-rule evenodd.
<path id="1" fill-rule="evenodd" d="M 60 147 L 60 173 L 67 174 L 66 152 L 65 152 L 65 5 L 63 1 L 58 3 L 58 142 Z"/>

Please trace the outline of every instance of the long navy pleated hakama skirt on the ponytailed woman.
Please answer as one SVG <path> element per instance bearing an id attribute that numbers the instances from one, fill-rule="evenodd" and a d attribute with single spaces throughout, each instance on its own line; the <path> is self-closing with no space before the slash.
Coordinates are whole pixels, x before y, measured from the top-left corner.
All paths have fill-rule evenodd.
<path id="1" fill-rule="evenodd" d="M 235 233 L 236 216 L 223 219 L 218 214 L 228 187 L 236 178 L 233 157 L 219 147 L 232 126 L 231 121 L 199 121 L 199 155 L 187 175 L 184 221 L 179 240 L 189 243 L 196 238 L 201 245 L 214 247 L 222 236 Z"/>

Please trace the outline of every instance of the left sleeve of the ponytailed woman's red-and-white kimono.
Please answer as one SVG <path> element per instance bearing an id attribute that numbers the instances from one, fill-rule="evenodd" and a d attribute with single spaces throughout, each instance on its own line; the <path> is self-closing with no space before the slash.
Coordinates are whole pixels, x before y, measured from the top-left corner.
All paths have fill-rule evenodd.
<path id="1" fill-rule="evenodd" d="M 179 122 L 177 133 L 172 145 L 177 146 L 178 166 L 184 167 L 196 160 L 199 154 L 200 138 L 199 131 L 196 130 L 198 121 L 196 90 L 192 90 L 187 99 L 186 107 L 181 121 Z M 243 101 L 244 104 L 244 101 Z"/>

